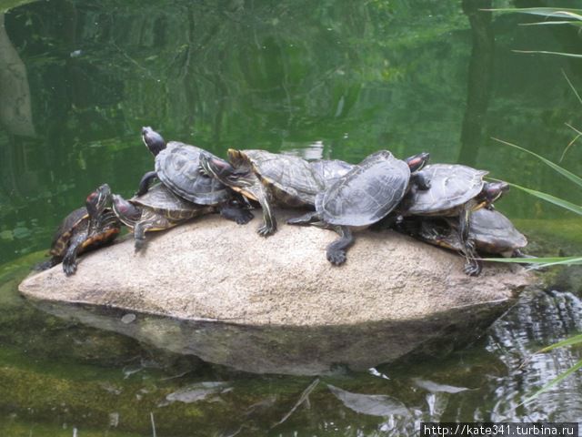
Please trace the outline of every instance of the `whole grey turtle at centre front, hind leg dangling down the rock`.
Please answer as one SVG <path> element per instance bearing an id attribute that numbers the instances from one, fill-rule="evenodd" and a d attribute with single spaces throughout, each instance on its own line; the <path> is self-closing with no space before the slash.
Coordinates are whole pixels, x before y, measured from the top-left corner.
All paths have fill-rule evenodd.
<path id="1" fill-rule="evenodd" d="M 426 190 L 429 179 L 420 171 L 430 155 L 426 152 L 400 160 L 380 150 L 316 196 L 316 212 L 289 219 L 294 225 L 314 224 L 334 229 L 339 235 L 326 248 L 334 265 L 346 262 L 346 249 L 354 243 L 352 230 L 366 229 L 386 218 L 405 197 L 410 186 Z"/>

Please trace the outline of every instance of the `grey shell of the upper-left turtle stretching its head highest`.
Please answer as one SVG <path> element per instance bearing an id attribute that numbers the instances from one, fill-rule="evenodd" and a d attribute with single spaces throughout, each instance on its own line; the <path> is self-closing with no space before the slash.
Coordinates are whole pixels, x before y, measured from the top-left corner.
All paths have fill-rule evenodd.
<path id="1" fill-rule="evenodd" d="M 216 205 L 229 198 L 229 192 L 216 178 L 200 172 L 199 158 L 206 150 L 170 141 L 156 156 L 157 178 L 181 198 L 200 205 Z"/>

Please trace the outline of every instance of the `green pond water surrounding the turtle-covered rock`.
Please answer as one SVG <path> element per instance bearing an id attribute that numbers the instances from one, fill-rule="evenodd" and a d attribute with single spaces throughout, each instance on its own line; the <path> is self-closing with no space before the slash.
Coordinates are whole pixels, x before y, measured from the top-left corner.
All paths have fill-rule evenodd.
<path id="1" fill-rule="evenodd" d="M 428 151 L 582 203 L 567 180 L 491 139 L 559 160 L 577 135 L 566 124 L 582 129 L 564 74 L 582 89 L 582 64 L 512 50 L 580 53 L 576 28 L 489 20 L 477 7 L 507 2 L 487 1 L 465 11 L 428 0 L 15 3 L 0 2 L 0 435 L 411 435 L 429 419 L 582 421 L 576 376 L 515 408 L 580 359 L 557 351 L 517 369 L 582 330 L 575 269 L 446 360 L 321 378 L 279 425 L 311 377 L 152 350 L 47 316 L 15 290 L 87 193 L 104 182 L 135 191 L 152 167 L 142 126 L 222 156 L 252 147 L 357 162 L 379 148 Z M 562 164 L 580 175 L 581 158 L 575 143 Z M 498 208 L 535 253 L 580 253 L 576 216 L 516 190 Z M 361 394 L 359 407 L 327 384 Z M 168 401 L 176 391 L 200 399 Z"/>

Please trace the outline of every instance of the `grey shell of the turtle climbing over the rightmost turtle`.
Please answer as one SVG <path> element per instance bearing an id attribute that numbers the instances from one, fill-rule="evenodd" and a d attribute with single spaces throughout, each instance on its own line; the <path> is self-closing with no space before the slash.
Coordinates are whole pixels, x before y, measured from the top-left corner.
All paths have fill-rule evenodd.
<path id="1" fill-rule="evenodd" d="M 406 213 L 412 215 L 454 214 L 456 208 L 475 198 L 483 189 L 485 170 L 458 164 L 433 164 L 422 170 L 430 188 L 411 190 Z"/>

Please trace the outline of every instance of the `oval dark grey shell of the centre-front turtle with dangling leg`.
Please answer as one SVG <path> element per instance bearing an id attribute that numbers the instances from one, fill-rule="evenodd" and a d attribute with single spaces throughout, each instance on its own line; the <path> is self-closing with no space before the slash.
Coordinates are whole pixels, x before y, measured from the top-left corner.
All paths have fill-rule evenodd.
<path id="1" fill-rule="evenodd" d="M 410 180 L 406 162 L 381 150 L 316 197 L 316 211 L 332 225 L 369 226 L 400 203 Z"/>

